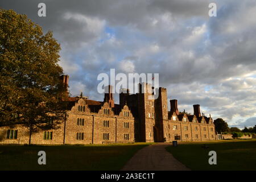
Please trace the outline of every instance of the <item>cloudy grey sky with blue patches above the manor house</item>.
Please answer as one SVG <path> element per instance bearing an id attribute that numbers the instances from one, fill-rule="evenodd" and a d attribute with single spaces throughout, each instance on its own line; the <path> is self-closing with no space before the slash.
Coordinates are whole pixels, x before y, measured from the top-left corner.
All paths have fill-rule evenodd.
<path id="1" fill-rule="evenodd" d="M 46 17 L 38 4 L 46 4 Z M 52 31 L 72 96 L 92 100 L 97 76 L 159 73 L 168 101 L 193 114 L 193 105 L 230 127 L 256 125 L 256 1 L 195 0 L 1 1 Z M 118 103 L 118 95 L 114 96 Z M 168 102 L 170 108 L 170 102 Z"/>

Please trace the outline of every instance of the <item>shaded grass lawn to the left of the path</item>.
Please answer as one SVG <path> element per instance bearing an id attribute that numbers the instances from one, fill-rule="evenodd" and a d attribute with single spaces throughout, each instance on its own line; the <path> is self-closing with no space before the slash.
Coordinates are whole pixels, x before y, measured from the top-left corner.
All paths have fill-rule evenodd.
<path id="1" fill-rule="evenodd" d="M 3 170 L 119 170 L 139 149 L 151 143 L 85 146 L 0 145 Z M 46 165 L 38 164 L 38 152 L 46 152 Z"/>

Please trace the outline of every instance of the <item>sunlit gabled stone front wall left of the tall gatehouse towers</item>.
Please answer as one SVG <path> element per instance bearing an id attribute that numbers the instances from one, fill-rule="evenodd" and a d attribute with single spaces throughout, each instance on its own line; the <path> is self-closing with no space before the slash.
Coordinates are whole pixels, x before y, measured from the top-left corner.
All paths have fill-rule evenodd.
<path id="1" fill-rule="evenodd" d="M 85 106 L 85 111 L 77 110 L 77 106 Z M 104 109 L 110 109 L 110 113 L 104 114 Z M 125 114 L 125 111 L 129 114 Z M 134 117 L 129 107 L 126 105 L 123 106 L 119 115 L 114 115 L 107 102 L 105 102 L 98 113 L 92 113 L 88 105 L 85 105 L 85 102 L 81 99 L 67 112 L 67 115 L 66 121 L 61 122 L 58 129 L 46 130 L 46 132 L 52 132 L 51 138 L 45 139 L 45 131 L 41 129 L 32 133 L 31 144 L 102 144 L 134 142 Z M 79 122 L 77 119 L 79 119 Z M 82 121 L 81 123 L 80 119 Z M 104 125 L 104 121 L 107 121 L 108 125 Z M 9 129 L 18 130 L 16 139 L 6 138 L 7 130 Z M 80 134 L 79 138 L 77 138 L 77 134 Z M 108 134 L 108 138 L 104 139 L 104 134 Z M 0 128 L 0 143 L 2 144 L 28 144 L 29 138 L 30 133 L 28 129 L 22 125 Z"/>

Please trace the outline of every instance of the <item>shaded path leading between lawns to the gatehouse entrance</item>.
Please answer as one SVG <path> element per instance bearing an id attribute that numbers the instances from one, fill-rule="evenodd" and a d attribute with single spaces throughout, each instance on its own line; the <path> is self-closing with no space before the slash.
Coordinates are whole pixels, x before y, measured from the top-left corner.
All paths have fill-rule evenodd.
<path id="1" fill-rule="evenodd" d="M 156 143 L 139 150 L 122 171 L 188 171 L 177 159 L 166 151 L 167 143 Z"/>

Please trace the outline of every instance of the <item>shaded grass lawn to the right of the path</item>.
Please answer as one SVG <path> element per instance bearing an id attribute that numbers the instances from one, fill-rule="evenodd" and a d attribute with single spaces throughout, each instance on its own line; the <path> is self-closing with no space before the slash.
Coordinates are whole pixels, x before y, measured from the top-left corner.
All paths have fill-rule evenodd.
<path id="1" fill-rule="evenodd" d="M 202 146 L 207 144 L 209 148 Z M 256 170 L 256 140 L 219 140 L 213 142 L 178 142 L 167 151 L 192 170 Z M 209 151 L 216 151 L 217 165 L 210 165 Z"/>

